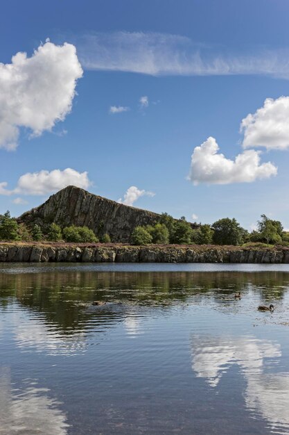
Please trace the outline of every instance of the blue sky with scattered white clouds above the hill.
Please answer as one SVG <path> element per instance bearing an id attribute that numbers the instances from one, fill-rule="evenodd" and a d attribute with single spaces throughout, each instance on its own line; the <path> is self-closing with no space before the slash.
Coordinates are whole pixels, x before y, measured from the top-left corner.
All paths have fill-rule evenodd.
<path id="1" fill-rule="evenodd" d="M 0 213 L 71 184 L 289 228 L 288 0 L 3 0 Z"/>

